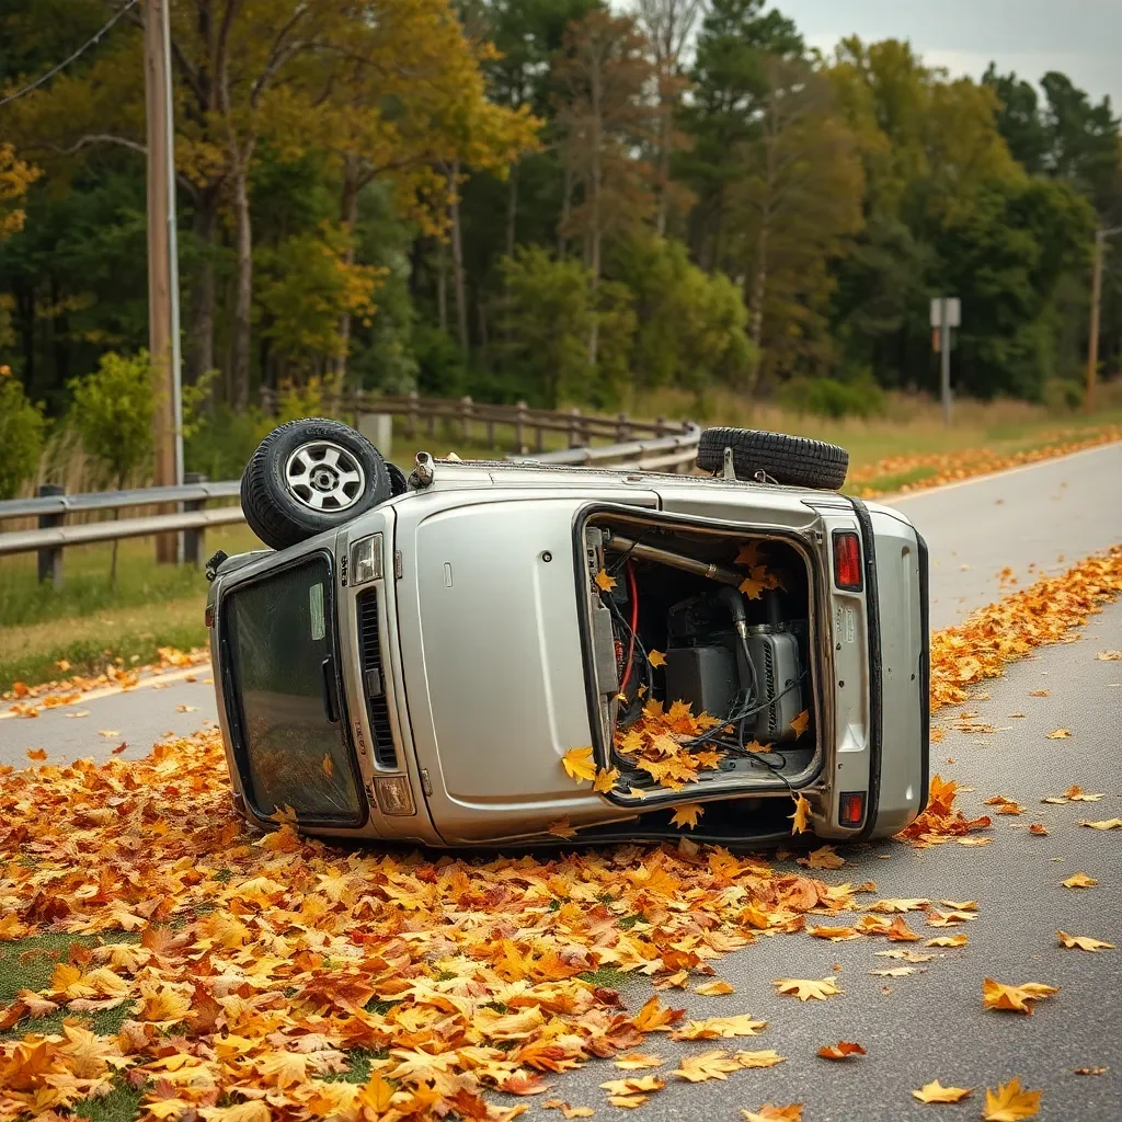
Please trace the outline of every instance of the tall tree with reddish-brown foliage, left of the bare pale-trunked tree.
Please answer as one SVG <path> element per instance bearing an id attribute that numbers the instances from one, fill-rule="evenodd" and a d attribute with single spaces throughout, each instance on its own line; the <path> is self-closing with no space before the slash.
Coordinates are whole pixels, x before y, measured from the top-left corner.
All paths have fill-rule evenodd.
<path id="1" fill-rule="evenodd" d="M 628 17 L 592 11 L 565 35 L 557 66 L 563 93 L 558 125 L 565 167 L 580 202 L 562 218 L 561 237 L 579 236 L 596 302 L 605 236 L 634 229 L 652 211 L 650 167 L 635 158 L 650 139 L 644 92 L 653 68 L 646 40 Z M 588 338 L 588 360 L 596 365 L 598 320 Z"/>

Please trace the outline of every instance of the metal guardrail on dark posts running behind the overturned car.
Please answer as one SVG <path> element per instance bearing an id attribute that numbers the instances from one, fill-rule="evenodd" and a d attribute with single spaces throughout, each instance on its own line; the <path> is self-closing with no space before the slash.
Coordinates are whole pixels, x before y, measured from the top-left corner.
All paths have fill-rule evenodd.
<path id="1" fill-rule="evenodd" d="M 384 398 L 371 398 L 380 406 Z M 406 401 L 412 401 L 406 398 Z M 423 399 L 417 399 L 423 401 Z M 459 403 L 451 403 L 457 405 Z M 517 406 L 489 406 L 496 410 L 514 410 Z M 528 411 L 544 412 L 544 411 Z M 434 414 L 427 414 L 432 417 Z M 623 415 L 620 414 L 620 417 Z M 558 420 L 553 414 L 552 419 Z M 620 419 L 561 415 L 568 422 L 579 421 L 589 427 L 622 426 Z M 481 420 L 484 424 L 497 424 L 495 417 Z M 534 419 L 544 421 L 548 419 Z M 512 423 L 512 422 L 506 422 Z M 513 422 L 518 423 L 517 419 Z M 523 417 L 523 424 L 531 421 Z M 697 457 L 698 439 L 701 430 L 692 423 L 680 422 L 627 422 L 628 426 L 652 433 L 645 440 L 625 440 L 613 444 L 576 445 L 555 452 L 535 456 L 507 456 L 518 463 L 569 463 L 574 466 L 633 467 L 641 471 L 687 470 Z M 661 430 L 661 431 L 660 431 Z M 670 430 L 666 432 L 666 430 Z M 573 430 L 570 430 L 572 432 Z M 618 427 L 617 430 L 618 431 Z M 467 439 L 467 438 L 466 438 Z M 540 439 L 539 439 L 540 442 Z M 245 522 L 241 506 L 223 506 L 203 509 L 213 499 L 237 498 L 240 480 L 228 479 L 211 482 L 202 475 L 187 473 L 182 487 L 139 487 L 134 490 L 98 491 L 85 495 L 66 495 L 61 487 L 44 484 L 35 498 L 8 499 L 0 502 L 0 522 L 9 518 L 38 519 L 35 530 L 17 530 L 0 533 L 0 557 L 15 553 L 38 553 L 39 580 L 52 580 L 55 588 L 63 583 L 63 551 L 73 545 L 94 542 L 112 542 L 125 537 L 146 537 L 149 534 L 183 533 L 183 557 L 188 564 L 202 565 L 205 552 L 205 534 L 211 526 Z M 178 511 L 163 512 L 129 518 L 113 518 L 86 522 L 80 525 L 64 525 L 70 514 L 86 514 L 138 506 L 168 506 L 175 504 Z"/>

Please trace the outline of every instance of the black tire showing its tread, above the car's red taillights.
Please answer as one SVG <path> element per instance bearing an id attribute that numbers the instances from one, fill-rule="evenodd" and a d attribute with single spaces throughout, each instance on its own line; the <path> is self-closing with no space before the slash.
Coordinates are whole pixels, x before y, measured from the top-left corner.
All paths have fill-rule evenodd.
<path id="1" fill-rule="evenodd" d="M 720 471 L 726 448 L 733 450 L 738 479 L 764 471 L 789 487 L 837 490 L 849 470 L 849 453 L 837 444 L 756 429 L 706 429 L 698 442 L 698 467 Z"/>

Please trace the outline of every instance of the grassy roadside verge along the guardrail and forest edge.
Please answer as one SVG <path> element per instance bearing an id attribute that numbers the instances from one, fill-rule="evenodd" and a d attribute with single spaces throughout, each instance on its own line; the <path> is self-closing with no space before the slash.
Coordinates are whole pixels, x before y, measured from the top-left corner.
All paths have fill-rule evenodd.
<path id="1" fill-rule="evenodd" d="M 955 424 L 946 429 L 937 403 L 902 394 L 888 395 L 886 414 L 871 420 L 828 420 L 799 415 L 771 404 L 755 404 L 729 392 L 715 392 L 698 402 L 692 395 L 661 389 L 628 403 L 633 417 L 693 419 L 701 424 L 772 429 L 839 443 L 849 449 L 856 470 L 889 457 L 914 457 L 988 449 L 1013 454 L 1052 443 L 1055 434 L 1091 434 L 1122 423 L 1122 383 L 1104 385 L 1102 408 L 1092 414 L 1057 413 L 1026 402 L 956 403 Z M 408 436 L 395 425 L 392 458 L 407 466 L 421 448 L 435 456 L 456 451 L 463 459 L 502 459 L 514 449 L 512 431 L 497 426 L 496 443 L 476 425 L 472 439 L 460 439 L 458 426 L 438 425 L 432 438 L 421 431 Z M 532 435 L 527 433 L 527 439 Z M 565 445 L 564 433 L 546 433 L 545 448 Z M 863 480 L 882 491 L 914 484 L 935 473 L 916 466 Z M 0 528 L 19 528 L 6 523 Z M 217 527 L 208 534 L 209 552 L 228 553 L 258 548 L 246 526 Z M 65 554 L 65 585 L 55 592 L 39 585 L 34 554 L 0 558 L 0 690 L 15 681 L 28 684 L 59 675 L 65 660 L 72 673 L 93 673 L 107 662 L 147 663 L 160 646 L 181 650 L 205 642 L 202 607 L 205 580 L 194 569 L 155 563 L 151 539 L 122 541 L 116 585 L 109 581 L 111 546 L 84 545 Z"/>

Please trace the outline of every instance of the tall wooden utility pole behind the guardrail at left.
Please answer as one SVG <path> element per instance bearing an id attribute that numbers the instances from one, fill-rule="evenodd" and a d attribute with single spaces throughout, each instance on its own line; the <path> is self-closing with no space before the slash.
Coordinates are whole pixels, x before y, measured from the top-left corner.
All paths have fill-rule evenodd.
<path id="1" fill-rule="evenodd" d="M 180 284 L 175 229 L 171 0 L 145 3 L 145 112 L 148 126 L 148 350 L 155 369 L 155 484 L 183 482 Z M 156 539 L 156 560 L 180 560 L 180 535 Z"/>

